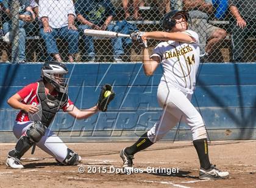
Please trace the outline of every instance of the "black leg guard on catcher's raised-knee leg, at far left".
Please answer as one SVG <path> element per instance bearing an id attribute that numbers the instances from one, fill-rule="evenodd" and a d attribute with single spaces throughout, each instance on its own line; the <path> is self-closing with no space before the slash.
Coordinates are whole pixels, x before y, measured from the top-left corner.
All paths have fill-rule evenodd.
<path id="1" fill-rule="evenodd" d="M 26 134 L 21 136 L 15 149 L 9 152 L 9 156 L 20 159 L 27 150 L 34 144 L 40 141 L 41 137 L 44 135 L 46 127 L 41 124 L 40 121 L 35 122 L 32 126 L 27 129 Z"/>

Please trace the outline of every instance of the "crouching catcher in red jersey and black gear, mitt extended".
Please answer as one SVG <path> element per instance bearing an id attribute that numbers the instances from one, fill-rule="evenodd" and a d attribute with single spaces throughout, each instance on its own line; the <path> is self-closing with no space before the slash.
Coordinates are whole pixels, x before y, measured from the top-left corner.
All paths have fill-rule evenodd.
<path id="1" fill-rule="evenodd" d="M 79 110 L 68 98 L 68 78 L 65 78 L 67 74 L 65 64 L 45 62 L 41 68 L 41 80 L 27 85 L 7 101 L 14 109 L 21 110 L 13 127 L 18 142 L 15 149 L 8 153 L 8 167 L 23 169 L 20 158 L 34 145 L 54 156 L 63 165 L 76 165 L 82 160 L 48 127 L 60 109 L 77 119 L 88 118 L 99 110 L 105 112 L 115 93 L 112 86 L 105 84 L 97 105 Z M 108 96 L 104 95 L 106 92 Z"/>

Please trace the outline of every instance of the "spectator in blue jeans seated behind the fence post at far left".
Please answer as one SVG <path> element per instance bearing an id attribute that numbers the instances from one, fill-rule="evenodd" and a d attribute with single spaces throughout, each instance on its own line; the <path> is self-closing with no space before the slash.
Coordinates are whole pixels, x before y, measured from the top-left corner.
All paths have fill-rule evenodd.
<path id="1" fill-rule="evenodd" d="M 4 15 L 2 16 L 4 20 L 4 24 L 2 25 L 2 30 L 4 32 L 3 40 L 10 44 L 14 36 L 10 35 L 11 25 L 12 25 L 12 1 L 11 0 L 3 0 L 2 1 L 4 8 Z M 26 62 L 25 55 L 25 45 L 26 45 L 26 32 L 24 27 L 29 22 L 34 21 L 35 14 L 32 8 L 29 6 L 29 0 L 21 0 L 19 7 L 19 52 L 18 52 L 18 63 Z"/>

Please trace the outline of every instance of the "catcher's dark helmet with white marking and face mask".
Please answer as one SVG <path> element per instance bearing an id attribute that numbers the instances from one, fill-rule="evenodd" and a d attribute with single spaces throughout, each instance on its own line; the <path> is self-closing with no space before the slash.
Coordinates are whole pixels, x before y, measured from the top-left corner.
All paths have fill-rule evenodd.
<path id="1" fill-rule="evenodd" d="M 65 78 L 67 74 L 68 69 L 66 65 L 61 62 L 45 62 L 41 68 L 41 78 L 52 84 L 52 86 L 61 93 L 68 92 L 68 78 Z"/>

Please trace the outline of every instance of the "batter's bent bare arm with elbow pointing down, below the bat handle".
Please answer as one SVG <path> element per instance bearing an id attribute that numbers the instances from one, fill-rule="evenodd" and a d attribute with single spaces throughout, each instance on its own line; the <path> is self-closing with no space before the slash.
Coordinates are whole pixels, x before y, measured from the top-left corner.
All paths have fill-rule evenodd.
<path id="1" fill-rule="evenodd" d="M 143 69 L 147 76 L 152 76 L 160 63 L 160 58 L 157 56 L 149 57 L 148 49 L 143 49 Z"/>

